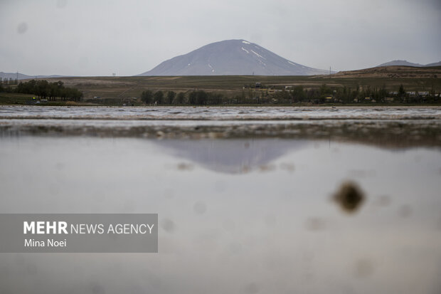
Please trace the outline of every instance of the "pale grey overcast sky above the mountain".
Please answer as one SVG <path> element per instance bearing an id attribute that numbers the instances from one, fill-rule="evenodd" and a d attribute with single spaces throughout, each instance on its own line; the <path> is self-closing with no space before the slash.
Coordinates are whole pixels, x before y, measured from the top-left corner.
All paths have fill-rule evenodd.
<path id="1" fill-rule="evenodd" d="M 0 0 L 0 71 L 136 75 L 240 39 L 313 68 L 441 61 L 441 0 Z"/>

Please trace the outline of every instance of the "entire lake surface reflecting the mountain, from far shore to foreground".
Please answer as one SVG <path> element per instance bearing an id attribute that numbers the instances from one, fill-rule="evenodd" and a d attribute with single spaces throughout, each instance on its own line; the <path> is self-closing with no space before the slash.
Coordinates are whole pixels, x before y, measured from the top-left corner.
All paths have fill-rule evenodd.
<path id="1" fill-rule="evenodd" d="M 440 126 L 439 107 L 0 107 L 0 213 L 160 226 L 159 253 L 0 253 L 0 292 L 440 293 Z"/>

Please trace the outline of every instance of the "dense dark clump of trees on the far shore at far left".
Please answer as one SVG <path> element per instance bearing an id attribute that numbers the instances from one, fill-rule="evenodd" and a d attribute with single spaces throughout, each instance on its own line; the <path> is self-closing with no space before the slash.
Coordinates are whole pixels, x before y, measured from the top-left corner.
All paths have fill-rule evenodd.
<path id="1" fill-rule="evenodd" d="M 60 80 L 55 83 L 49 83 L 47 80 L 30 80 L 25 83 L 19 83 L 14 91 L 16 93 L 37 95 L 38 99 L 52 101 L 55 101 L 57 98 L 80 101 L 83 98 L 83 93 L 78 89 L 65 87 Z"/>

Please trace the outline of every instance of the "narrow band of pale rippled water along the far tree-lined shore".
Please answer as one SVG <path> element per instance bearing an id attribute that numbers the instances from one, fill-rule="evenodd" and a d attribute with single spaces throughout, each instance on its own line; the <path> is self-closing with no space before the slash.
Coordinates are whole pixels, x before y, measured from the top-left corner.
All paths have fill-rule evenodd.
<path id="1" fill-rule="evenodd" d="M 441 107 L 59 107 L 1 106 L 0 119 L 90 120 L 418 120 Z"/>

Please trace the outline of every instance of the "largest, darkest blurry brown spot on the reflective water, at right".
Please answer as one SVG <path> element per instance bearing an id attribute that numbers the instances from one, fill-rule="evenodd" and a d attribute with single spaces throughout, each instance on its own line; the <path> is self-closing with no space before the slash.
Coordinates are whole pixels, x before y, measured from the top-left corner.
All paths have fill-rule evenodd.
<path id="1" fill-rule="evenodd" d="M 347 213 L 354 213 L 363 203 L 364 194 L 356 182 L 348 181 L 341 184 L 333 199 L 340 205 L 341 209 Z"/>

